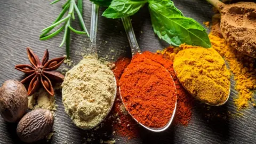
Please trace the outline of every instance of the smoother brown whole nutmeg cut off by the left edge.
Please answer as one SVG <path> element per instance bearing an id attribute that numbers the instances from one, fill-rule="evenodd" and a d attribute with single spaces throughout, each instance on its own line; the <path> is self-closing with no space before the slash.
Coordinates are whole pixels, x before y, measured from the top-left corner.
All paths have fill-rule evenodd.
<path id="1" fill-rule="evenodd" d="M 0 87 L 0 114 L 4 120 L 17 122 L 27 109 L 28 94 L 25 86 L 13 79 L 5 81 Z"/>

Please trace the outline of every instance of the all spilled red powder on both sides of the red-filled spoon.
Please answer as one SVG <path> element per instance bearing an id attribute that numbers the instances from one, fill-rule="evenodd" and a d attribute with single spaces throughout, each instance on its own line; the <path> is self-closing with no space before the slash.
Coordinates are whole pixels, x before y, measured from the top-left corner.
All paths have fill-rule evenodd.
<path id="1" fill-rule="evenodd" d="M 173 49 L 167 48 L 166 51 L 169 53 L 173 52 Z M 178 81 L 177 76 L 173 70 L 173 61 L 168 57 L 164 57 L 162 54 L 155 54 L 151 52 L 144 52 L 142 55 L 145 55 L 148 59 L 151 59 L 155 62 L 160 63 L 164 66 L 172 75 L 174 79 L 174 83 L 177 89 L 177 109 L 174 117 L 173 124 L 182 124 L 187 126 L 191 120 L 192 115 L 192 107 L 193 107 L 193 98 L 183 89 L 181 84 Z M 115 62 L 115 69 L 113 69 L 113 73 L 116 77 L 117 89 L 119 89 L 119 78 L 123 74 L 124 69 L 129 65 L 129 58 L 121 58 Z M 115 119 L 113 119 L 113 131 L 116 132 L 117 135 L 122 137 L 136 138 L 139 135 L 139 128 L 137 122 L 127 114 L 127 111 L 123 109 L 123 103 L 121 101 L 121 97 L 119 91 L 117 91 L 116 101 L 114 103 L 113 109 L 111 111 L 111 115 L 115 115 Z M 116 116 L 117 115 L 117 116 Z"/>

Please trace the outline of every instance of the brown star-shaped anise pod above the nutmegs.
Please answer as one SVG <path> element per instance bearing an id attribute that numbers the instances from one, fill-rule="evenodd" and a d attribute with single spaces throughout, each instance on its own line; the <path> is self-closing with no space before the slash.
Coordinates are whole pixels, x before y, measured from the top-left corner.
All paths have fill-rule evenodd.
<path id="1" fill-rule="evenodd" d="M 40 62 L 38 56 L 29 47 L 27 47 L 27 53 L 31 65 L 16 65 L 15 69 L 28 75 L 21 81 L 23 84 L 30 82 L 28 86 L 28 95 L 36 92 L 39 89 L 40 83 L 49 94 L 54 95 L 52 82 L 62 82 L 65 76 L 58 71 L 53 70 L 58 69 L 66 57 L 49 60 L 49 52 L 46 49 L 42 62 Z"/>

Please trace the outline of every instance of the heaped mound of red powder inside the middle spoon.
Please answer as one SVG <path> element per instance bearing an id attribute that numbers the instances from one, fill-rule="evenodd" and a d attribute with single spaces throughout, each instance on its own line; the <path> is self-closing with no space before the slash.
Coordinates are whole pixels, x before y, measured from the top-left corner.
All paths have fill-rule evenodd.
<path id="1" fill-rule="evenodd" d="M 138 122 L 154 128 L 169 122 L 177 95 L 173 79 L 162 65 L 136 54 L 119 84 L 125 108 Z"/>

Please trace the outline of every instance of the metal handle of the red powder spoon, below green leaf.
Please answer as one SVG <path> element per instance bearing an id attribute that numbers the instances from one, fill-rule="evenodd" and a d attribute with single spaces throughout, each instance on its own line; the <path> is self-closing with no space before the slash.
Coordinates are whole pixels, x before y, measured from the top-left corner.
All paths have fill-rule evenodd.
<path id="1" fill-rule="evenodd" d="M 124 17 L 122 18 L 124 29 L 128 38 L 128 41 L 130 43 L 132 56 L 136 53 L 141 53 L 140 47 L 137 43 L 133 28 L 132 28 L 132 22 L 130 17 Z"/>

